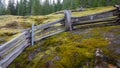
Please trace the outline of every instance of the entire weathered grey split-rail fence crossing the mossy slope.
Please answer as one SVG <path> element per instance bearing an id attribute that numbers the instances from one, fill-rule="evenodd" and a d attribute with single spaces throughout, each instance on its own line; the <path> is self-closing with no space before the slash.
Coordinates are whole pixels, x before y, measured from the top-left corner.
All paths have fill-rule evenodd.
<path id="1" fill-rule="evenodd" d="M 119 22 L 120 6 L 113 10 L 91 14 L 82 17 L 72 17 L 70 10 L 65 10 L 64 18 L 38 26 L 32 26 L 22 31 L 14 39 L 0 46 L 0 68 L 6 68 L 28 45 L 33 45 L 43 38 L 74 30 L 78 25 L 94 24 L 100 22 Z"/>

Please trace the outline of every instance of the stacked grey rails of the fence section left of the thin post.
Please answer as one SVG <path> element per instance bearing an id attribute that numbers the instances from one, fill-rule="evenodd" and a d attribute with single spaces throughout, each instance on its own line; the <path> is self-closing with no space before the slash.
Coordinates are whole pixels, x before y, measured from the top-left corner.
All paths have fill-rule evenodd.
<path id="1" fill-rule="evenodd" d="M 29 45 L 26 32 L 0 46 L 0 66 L 6 68 Z"/>

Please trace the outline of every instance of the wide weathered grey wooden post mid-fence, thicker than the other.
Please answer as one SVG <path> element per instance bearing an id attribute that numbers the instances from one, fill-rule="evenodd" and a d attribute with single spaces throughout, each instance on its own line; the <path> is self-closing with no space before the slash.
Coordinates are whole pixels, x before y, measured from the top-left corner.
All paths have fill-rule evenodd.
<path id="1" fill-rule="evenodd" d="M 71 23 L 71 10 L 65 10 L 65 27 L 67 31 L 73 30 L 72 23 Z"/>

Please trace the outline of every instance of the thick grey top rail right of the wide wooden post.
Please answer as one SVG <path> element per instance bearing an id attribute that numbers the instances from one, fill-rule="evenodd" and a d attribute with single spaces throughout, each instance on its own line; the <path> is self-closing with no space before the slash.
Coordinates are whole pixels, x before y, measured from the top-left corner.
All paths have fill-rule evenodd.
<path id="1" fill-rule="evenodd" d="M 96 19 L 101 19 L 101 18 L 106 18 L 106 17 L 111 17 L 111 16 L 115 16 L 114 13 L 117 10 L 109 10 L 106 12 L 101 12 L 101 13 L 96 13 L 96 14 L 90 14 L 87 16 L 82 16 L 82 17 L 72 17 L 72 22 L 76 23 L 79 21 L 87 21 L 87 20 L 96 20 Z"/>

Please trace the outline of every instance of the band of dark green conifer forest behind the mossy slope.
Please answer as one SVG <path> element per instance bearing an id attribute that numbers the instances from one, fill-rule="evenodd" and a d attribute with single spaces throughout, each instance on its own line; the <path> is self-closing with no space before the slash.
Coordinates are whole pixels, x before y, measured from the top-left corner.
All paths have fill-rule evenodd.
<path id="1" fill-rule="evenodd" d="M 99 7 L 120 4 L 119 0 L 9 0 L 8 6 L 0 0 L 0 15 L 46 15 L 64 9 Z"/>

